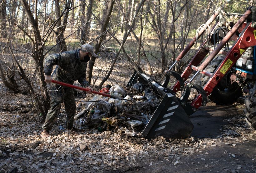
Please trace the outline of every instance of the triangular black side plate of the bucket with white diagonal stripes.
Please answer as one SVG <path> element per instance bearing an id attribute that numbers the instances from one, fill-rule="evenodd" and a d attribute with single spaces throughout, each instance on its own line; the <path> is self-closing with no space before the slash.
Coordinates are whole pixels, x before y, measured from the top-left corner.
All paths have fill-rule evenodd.
<path id="1" fill-rule="evenodd" d="M 145 138 L 184 139 L 188 138 L 194 128 L 180 102 L 171 93 L 167 93 L 155 110 L 142 134 Z"/>

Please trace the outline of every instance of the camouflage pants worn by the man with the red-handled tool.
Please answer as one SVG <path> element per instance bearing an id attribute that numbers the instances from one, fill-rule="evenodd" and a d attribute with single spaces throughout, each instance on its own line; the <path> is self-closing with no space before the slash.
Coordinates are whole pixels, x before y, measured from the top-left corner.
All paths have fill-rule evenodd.
<path id="1" fill-rule="evenodd" d="M 76 112 L 76 102 L 73 89 L 63 88 L 62 86 L 53 84 L 49 90 L 51 93 L 51 108 L 49 109 L 44 124 L 42 125 L 43 130 L 52 129 L 52 125 L 60 113 L 61 103 L 63 103 L 63 101 L 66 111 L 66 124 L 69 128 L 72 127 Z"/>

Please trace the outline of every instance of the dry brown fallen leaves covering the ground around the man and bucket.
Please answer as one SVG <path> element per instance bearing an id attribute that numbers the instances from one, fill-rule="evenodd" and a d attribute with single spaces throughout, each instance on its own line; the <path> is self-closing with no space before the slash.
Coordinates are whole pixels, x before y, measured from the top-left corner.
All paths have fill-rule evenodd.
<path id="1" fill-rule="evenodd" d="M 89 127 L 86 126 L 88 124 L 83 124 L 84 128 L 79 133 L 72 133 L 59 127 L 65 124 L 65 110 L 62 105 L 61 113 L 51 131 L 53 136 L 51 139 L 41 140 L 41 123 L 36 118 L 29 97 L 22 94 L 14 95 L 8 92 L 2 83 L 0 85 L 1 172 L 9 172 L 14 168 L 17 168 L 18 172 L 105 172 L 109 167 L 117 170 L 146 162 L 151 166 L 151 157 L 165 159 L 177 166 L 183 155 L 202 152 L 220 143 L 236 147 L 234 143 L 241 143 L 254 135 L 253 130 L 245 124 L 242 115 L 228 117 L 230 123 L 220 129 L 222 134 L 216 138 L 165 139 L 159 136 L 149 140 L 142 136 L 141 127 L 134 128 L 124 123 L 125 121 L 119 121 L 122 122 L 119 124 L 106 121 L 112 119 L 111 117 L 102 120 L 101 124 L 96 126 Z M 129 107 L 126 110 L 128 114 L 141 115 L 141 104 L 135 103 L 133 109 L 136 110 L 137 107 L 137 112 L 129 112 Z M 150 107 L 150 103 L 147 104 L 147 107 Z M 77 103 L 77 106 L 78 110 L 82 110 L 81 103 Z M 154 107 L 150 109 L 145 107 L 143 114 L 152 114 Z M 116 113 L 120 113 L 120 110 L 116 110 Z M 131 117 L 130 119 L 133 120 Z M 238 126 L 233 126 L 232 123 Z M 233 153 L 230 156 L 235 157 Z M 204 166 L 210 167 L 208 164 Z M 240 166 L 237 166 L 237 169 L 241 169 Z"/>

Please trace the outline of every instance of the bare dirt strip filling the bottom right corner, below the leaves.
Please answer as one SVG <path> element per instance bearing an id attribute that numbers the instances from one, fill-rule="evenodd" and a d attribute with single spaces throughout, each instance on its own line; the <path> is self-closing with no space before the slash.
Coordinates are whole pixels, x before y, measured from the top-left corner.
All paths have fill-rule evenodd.
<path id="1" fill-rule="evenodd" d="M 140 167 L 128 169 L 125 172 L 256 172 L 255 147 L 255 140 L 246 143 L 236 143 L 234 147 L 225 143 L 219 143 L 218 146 L 176 159 L 179 162 L 177 165 L 166 160 L 151 158 L 149 162 L 142 164 Z M 151 162 L 152 165 L 149 166 Z M 116 172 L 122 172 L 122 170 Z"/>

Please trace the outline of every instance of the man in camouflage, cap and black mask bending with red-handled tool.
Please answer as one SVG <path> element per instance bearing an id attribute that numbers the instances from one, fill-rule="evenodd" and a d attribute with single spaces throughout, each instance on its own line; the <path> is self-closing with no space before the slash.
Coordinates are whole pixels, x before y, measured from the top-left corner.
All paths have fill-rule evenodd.
<path id="1" fill-rule="evenodd" d="M 97 57 L 90 44 L 84 44 L 80 49 L 49 55 L 44 61 L 45 81 L 47 83 L 51 83 L 52 67 L 53 65 L 58 65 L 55 80 L 68 84 L 73 84 L 74 80 L 78 80 L 82 87 L 89 89 L 87 93 L 91 93 L 92 89 L 86 81 L 87 61 L 90 60 L 91 56 Z M 57 119 L 62 102 L 64 102 L 65 105 L 66 126 L 69 130 L 75 130 L 73 123 L 76 111 L 76 102 L 73 89 L 52 84 L 49 90 L 51 95 L 51 108 L 49 109 L 45 122 L 42 125 L 43 131 L 40 136 L 43 139 L 51 136 L 49 131 L 52 129 L 52 125 Z"/>

